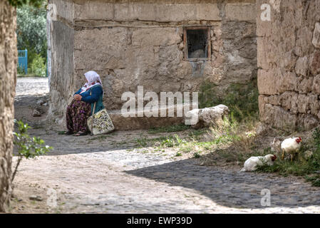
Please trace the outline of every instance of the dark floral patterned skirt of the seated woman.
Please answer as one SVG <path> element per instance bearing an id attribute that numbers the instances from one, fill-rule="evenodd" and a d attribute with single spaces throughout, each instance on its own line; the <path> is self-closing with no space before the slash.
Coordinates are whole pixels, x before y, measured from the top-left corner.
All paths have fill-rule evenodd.
<path id="1" fill-rule="evenodd" d="M 88 132 L 87 119 L 91 116 L 91 104 L 81 100 L 72 100 L 67 107 L 66 123 L 68 131 Z"/>

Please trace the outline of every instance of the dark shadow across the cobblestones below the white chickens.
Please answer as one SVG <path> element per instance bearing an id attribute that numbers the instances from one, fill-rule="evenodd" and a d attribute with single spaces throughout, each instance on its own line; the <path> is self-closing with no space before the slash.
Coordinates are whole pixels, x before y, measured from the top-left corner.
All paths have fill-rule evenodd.
<path id="1" fill-rule="evenodd" d="M 197 165 L 188 159 L 126 171 L 170 185 L 197 190 L 217 204 L 236 208 L 265 208 L 262 190 L 271 192 L 271 207 L 307 207 L 320 204 L 320 191 L 307 183 L 293 183 L 287 177 L 223 170 Z"/>

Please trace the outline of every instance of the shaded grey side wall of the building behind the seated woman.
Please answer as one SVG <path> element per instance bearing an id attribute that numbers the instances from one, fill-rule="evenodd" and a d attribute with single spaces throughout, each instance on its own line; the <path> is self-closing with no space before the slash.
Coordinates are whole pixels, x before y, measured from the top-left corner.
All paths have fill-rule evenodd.
<path id="1" fill-rule="evenodd" d="M 68 98 L 73 91 L 73 25 L 68 20 L 73 18 L 71 1 L 49 1 L 55 5 L 58 15 L 50 15 L 48 19 L 48 58 L 50 110 L 53 116 L 61 116 L 65 112 Z M 53 13 L 53 12 L 52 12 Z M 59 20 L 58 20 L 58 19 Z M 74 93 L 74 92 L 73 92 Z"/>

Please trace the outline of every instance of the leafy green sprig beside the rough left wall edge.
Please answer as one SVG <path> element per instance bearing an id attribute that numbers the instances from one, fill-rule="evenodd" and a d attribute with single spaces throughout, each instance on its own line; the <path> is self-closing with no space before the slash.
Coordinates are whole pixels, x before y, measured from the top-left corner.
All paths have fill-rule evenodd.
<path id="1" fill-rule="evenodd" d="M 34 158 L 39 155 L 45 155 L 52 150 L 52 147 L 44 145 L 44 141 L 41 138 L 31 138 L 28 135 L 30 126 L 27 123 L 23 123 L 21 120 L 14 120 L 14 123 L 18 125 L 19 129 L 19 133 L 14 133 L 14 145 L 18 148 L 19 157 Z"/>

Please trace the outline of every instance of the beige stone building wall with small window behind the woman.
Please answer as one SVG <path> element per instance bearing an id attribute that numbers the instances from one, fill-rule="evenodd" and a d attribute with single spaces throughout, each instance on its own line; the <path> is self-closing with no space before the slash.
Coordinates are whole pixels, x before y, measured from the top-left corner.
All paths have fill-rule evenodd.
<path id="1" fill-rule="evenodd" d="M 137 86 L 144 92 L 192 92 L 210 81 L 223 93 L 231 83 L 257 76 L 255 0 L 49 3 L 51 117 L 63 118 L 85 82 L 83 73 L 91 70 L 102 77 L 111 114 L 125 102 L 121 95 Z"/>

